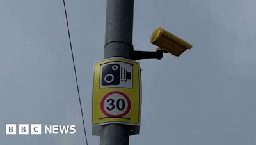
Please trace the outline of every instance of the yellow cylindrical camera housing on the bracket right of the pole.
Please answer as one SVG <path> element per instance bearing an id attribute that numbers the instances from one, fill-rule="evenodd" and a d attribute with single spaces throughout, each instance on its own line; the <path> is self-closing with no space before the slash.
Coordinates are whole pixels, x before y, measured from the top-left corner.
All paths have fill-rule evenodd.
<path id="1" fill-rule="evenodd" d="M 169 52 L 177 57 L 193 46 L 161 27 L 153 32 L 150 42 L 158 46 L 163 52 Z"/>

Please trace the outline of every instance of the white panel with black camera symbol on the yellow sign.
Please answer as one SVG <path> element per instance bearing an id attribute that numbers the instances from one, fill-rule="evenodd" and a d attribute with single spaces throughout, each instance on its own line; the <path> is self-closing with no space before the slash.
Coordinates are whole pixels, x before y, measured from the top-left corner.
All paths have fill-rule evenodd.
<path id="1" fill-rule="evenodd" d="M 110 62 L 100 66 L 100 88 L 132 88 L 132 64 Z"/>

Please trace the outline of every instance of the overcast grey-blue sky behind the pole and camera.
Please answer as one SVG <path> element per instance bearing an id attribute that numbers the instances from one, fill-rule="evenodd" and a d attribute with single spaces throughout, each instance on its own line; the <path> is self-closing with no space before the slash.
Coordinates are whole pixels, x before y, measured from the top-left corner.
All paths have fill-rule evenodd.
<path id="1" fill-rule="evenodd" d="M 103 59 L 106 1 L 67 0 L 92 136 L 93 62 Z M 256 1 L 134 2 L 136 50 L 156 27 L 193 44 L 180 57 L 140 60 L 142 115 L 130 144 L 256 144 Z M 0 144 L 84 144 L 63 1 L 0 0 Z M 76 125 L 76 134 L 5 135 L 6 123 Z"/>

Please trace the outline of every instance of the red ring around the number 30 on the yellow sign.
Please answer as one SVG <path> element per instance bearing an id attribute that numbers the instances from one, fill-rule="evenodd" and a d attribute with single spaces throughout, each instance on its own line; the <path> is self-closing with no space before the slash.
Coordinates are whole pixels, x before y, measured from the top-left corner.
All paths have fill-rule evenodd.
<path id="1" fill-rule="evenodd" d="M 105 100 L 109 97 L 109 95 L 113 95 L 113 94 L 119 94 L 119 95 L 122 95 L 126 100 L 127 100 L 127 110 L 122 113 L 122 114 L 118 114 L 118 115 L 113 115 L 113 114 L 109 114 L 105 109 L 104 109 L 104 102 Z M 102 113 L 108 117 L 113 117 L 113 118 L 122 118 L 124 117 L 125 115 L 127 115 L 130 110 L 131 110 L 131 100 L 129 99 L 128 95 L 126 95 L 124 92 L 120 92 L 120 91 L 112 91 L 112 92 L 109 92 L 107 93 L 106 95 L 104 95 L 104 97 L 102 98 L 101 102 L 100 102 L 100 109 L 102 111 Z"/>

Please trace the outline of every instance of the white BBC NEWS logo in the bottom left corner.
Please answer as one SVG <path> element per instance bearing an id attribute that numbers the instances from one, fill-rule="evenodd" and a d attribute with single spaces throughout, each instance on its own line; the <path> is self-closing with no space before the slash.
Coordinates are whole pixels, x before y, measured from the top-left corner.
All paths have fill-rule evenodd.
<path id="1" fill-rule="evenodd" d="M 42 128 L 44 127 L 44 128 Z M 76 125 L 6 124 L 6 135 L 75 134 Z"/>

